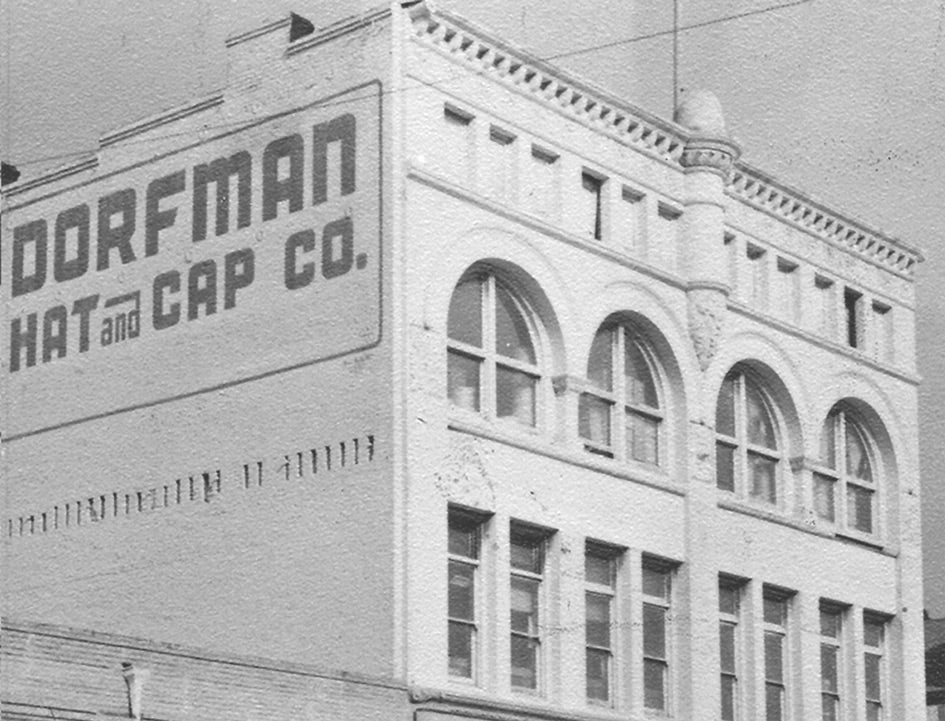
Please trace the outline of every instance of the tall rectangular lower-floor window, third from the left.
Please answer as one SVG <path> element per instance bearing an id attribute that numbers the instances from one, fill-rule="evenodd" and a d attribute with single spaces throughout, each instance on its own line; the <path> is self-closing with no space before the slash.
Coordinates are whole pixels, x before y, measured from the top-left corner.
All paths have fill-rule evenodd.
<path id="1" fill-rule="evenodd" d="M 614 611 L 617 551 L 588 543 L 584 552 L 584 618 L 587 698 L 613 704 Z"/>

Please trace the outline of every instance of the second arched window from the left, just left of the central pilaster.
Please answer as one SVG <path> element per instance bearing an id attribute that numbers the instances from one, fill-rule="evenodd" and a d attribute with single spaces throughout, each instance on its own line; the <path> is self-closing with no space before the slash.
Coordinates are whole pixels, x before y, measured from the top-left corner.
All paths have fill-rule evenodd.
<path id="1" fill-rule="evenodd" d="M 579 432 L 592 453 L 660 464 L 663 404 L 653 353 L 628 325 L 602 328 L 587 363 Z"/>

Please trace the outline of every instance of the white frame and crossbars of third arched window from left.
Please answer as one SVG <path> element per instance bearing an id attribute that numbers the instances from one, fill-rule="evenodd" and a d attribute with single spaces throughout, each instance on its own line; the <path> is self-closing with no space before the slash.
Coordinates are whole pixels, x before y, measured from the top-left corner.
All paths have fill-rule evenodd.
<path id="1" fill-rule="evenodd" d="M 722 392 L 725 383 L 734 377 L 733 390 L 733 423 L 734 435 L 728 435 L 719 430 L 718 413 L 719 403 L 721 402 Z M 753 443 L 748 439 L 748 386 L 752 385 L 757 391 L 759 400 L 771 422 L 772 433 L 774 435 L 777 448 L 768 448 L 758 443 Z M 719 393 L 716 396 L 716 422 L 715 422 L 715 452 L 716 452 L 716 488 L 726 493 L 731 493 L 739 500 L 756 504 L 766 509 L 781 510 L 785 505 L 787 495 L 787 433 L 786 424 L 781 415 L 778 404 L 771 397 L 766 383 L 758 374 L 751 369 L 741 365 L 734 366 L 722 379 L 722 385 L 719 386 Z M 732 449 L 732 488 L 724 488 L 720 485 L 719 473 L 719 448 L 726 447 Z M 753 477 L 751 476 L 751 465 L 749 459 L 760 457 L 774 463 L 774 502 L 765 500 L 756 495 L 750 485 L 753 486 Z"/>

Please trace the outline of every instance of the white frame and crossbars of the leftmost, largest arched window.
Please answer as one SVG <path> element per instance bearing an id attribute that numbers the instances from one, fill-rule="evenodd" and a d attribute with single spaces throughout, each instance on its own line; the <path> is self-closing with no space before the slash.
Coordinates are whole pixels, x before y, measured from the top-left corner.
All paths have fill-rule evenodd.
<path id="1" fill-rule="evenodd" d="M 500 423 L 503 426 L 528 429 L 541 432 L 545 425 L 547 413 L 548 373 L 544 368 L 546 343 L 543 327 L 537 314 L 530 304 L 522 298 L 522 294 L 515 285 L 509 283 L 502 274 L 490 267 L 477 267 L 463 274 L 453 287 L 450 294 L 449 308 L 452 308 L 453 298 L 457 289 L 464 283 L 475 282 L 479 289 L 479 329 L 481 346 L 452 337 L 449 309 L 447 310 L 446 352 L 447 352 L 447 401 L 452 413 L 465 415 L 467 418 L 479 418 L 488 422 Z M 514 305 L 515 311 L 521 317 L 528 332 L 528 340 L 535 357 L 535 363 L 520 360 L 499 352 L 497 343 L 497 304 L 500 290 L 506 293 Z M 457 402 L 454 398 L 452 381 L 453 367 L 451 360 L 454 357 L 470 359 L 477 364 L 478 386 L 476 388 L 476 403 L 474 406 Z M 500 370 L 510 371 L 513 374 L 526 376 L 532 380 L 533 398 L 531 422 L 526 423 L 515 418 L 515 414 L 499 414 L 499 375 Z M 463 386 L 469 387 L 469 386 Z"/>

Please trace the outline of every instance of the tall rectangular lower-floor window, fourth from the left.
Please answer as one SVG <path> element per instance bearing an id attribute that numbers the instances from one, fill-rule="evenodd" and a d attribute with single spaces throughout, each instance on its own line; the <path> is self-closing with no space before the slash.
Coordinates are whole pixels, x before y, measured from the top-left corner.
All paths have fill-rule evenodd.
<path id="1" fill-rule="evenodd" d="M 670 687 L 669 618 L 672 568 L 643 559 L 643 705 L 667 711 Z"/>

